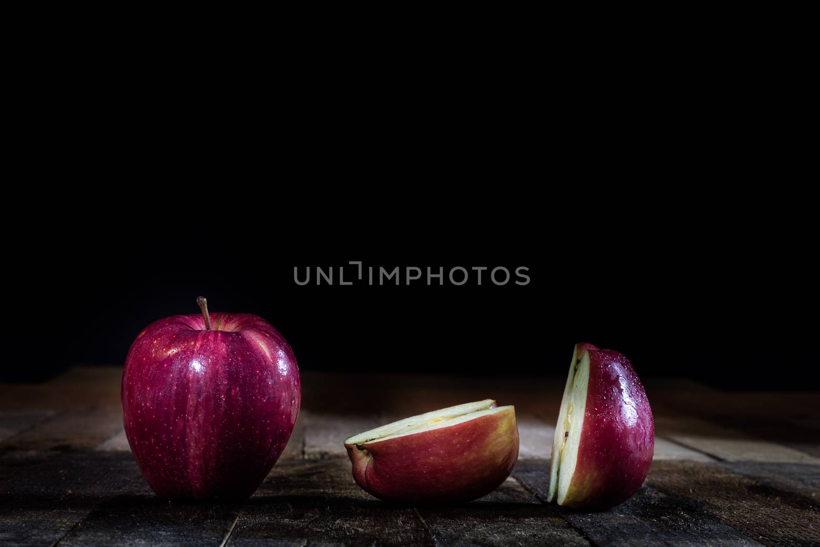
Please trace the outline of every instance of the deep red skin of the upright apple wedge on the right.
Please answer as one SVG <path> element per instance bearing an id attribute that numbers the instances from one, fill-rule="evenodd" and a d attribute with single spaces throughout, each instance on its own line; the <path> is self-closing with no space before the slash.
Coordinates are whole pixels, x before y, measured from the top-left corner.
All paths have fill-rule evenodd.
<path id="1" fill-rule="evenodd" d="M 602 510 L 626 501 L 644 484 L 655 445 L 652 408 L 630 362 L 611 349 L 590 352 L 584 425 L 563 505 Z"/>

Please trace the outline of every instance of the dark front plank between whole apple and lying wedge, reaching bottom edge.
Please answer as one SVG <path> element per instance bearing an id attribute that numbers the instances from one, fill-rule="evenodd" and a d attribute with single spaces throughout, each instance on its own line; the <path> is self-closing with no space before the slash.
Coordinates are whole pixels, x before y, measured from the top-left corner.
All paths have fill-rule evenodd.
<path id="1" fill-rule="evenodd" d="M 244 505 L 228 545 L 435 545 L 417 513 L 353 482 L 345 458 L 286 459 Z"/>

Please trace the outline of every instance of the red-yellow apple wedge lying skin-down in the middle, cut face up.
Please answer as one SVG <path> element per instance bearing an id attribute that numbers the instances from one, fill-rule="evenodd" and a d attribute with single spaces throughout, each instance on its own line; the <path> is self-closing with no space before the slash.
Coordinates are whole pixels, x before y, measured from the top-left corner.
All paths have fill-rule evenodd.
<path id="1" fill-rule="evenodd" d="M 458 504 L 490 494 L 518 458 L 515 408 L 492 399 L 459 404 L 344 441 L 353 479 L 376 498 Z"/>

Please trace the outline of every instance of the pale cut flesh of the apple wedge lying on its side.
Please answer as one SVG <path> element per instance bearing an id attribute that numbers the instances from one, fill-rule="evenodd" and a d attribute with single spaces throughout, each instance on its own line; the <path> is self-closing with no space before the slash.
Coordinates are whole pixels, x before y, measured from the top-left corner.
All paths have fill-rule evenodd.
<path id="1" fill-rule="evenodd" d="M 413 435 L 421 431 L 430 431 L 440 427 L 454 426 L 458 423 L 474 420 L 477 417 L 501 412 L 510 407 L 496 407 L 493 399 L 484 399 L 475 403 L 459 404 L 454 407 L 442 408 L 431 413 L 408 417 L 399 422 L 389 423 L 386 426 L 376 427 L 370 431 L 353 435 L 344 444 L 365 444 L 381 440 L 395 439 L 404 435 Z"/>

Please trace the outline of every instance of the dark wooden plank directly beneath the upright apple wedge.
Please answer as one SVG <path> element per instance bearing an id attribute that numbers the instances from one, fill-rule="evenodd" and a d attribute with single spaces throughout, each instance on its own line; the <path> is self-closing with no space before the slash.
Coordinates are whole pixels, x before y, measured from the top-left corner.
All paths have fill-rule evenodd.
<path id="1" fill-rule="evenodd" d="M 512 475 L 546 501 L 549 462 L 519 461 Z M 704 513 L 686 496 L 670 495 L 646 485 L 624 504 L 600 513 L 553 507 L 596 545 L 759 545 L 752 537 Z"/>

